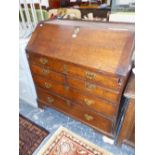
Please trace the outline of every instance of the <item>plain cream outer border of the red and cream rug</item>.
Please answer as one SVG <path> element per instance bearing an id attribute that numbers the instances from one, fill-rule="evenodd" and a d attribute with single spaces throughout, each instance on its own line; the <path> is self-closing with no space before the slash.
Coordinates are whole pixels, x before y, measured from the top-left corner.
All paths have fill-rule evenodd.
<path id="1" fill-rule="evenodd" d="M 88 144 L 89 146 L 99 150 L 101 153 L 106 153 L 107 155 L 114 155 L 113 153 L 105 150 L 104 148 L 101 148 L 95 144 L 93 144 L 92 142 L 89 142 L 87 139 L 77 135 L 76 133 L 70 131 L 69 129 L 60 126 L 55 133 L 51 136 L 51 138 L 48 139 L 47 143 L 38 151 L 37 155 L 42 155 L 45 151 L 45 149 L 48 147 L 48 145 L 57 137 L 58 134 L 60 134 L 62 131 L 66 131 L 67 133 L 73 135 L 75 138 L 78 138 L 79 140 L 83 141 L 84 143 Z"/>

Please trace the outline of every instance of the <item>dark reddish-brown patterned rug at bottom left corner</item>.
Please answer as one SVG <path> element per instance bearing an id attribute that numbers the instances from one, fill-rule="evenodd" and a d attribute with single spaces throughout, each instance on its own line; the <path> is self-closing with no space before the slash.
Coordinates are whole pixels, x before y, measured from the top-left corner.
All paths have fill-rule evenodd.
<path id="1" fill-rule="evenodd" d="M 32 155 L 48 131 L 19 114 L 19 155 Z"/>

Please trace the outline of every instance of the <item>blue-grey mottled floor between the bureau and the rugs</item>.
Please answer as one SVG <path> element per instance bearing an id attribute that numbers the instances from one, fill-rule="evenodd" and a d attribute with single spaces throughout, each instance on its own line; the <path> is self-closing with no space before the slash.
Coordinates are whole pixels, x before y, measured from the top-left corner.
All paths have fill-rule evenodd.
<path id="1" fill-rule="evenodd" d="M 34 108 L 23 101 L 20 101 L 19 108 L 22 115 L 48 130 L 50 132 L 50 137 L 60 126 L 63 126 L 70 131 L 76 133 L 77 135 L 85 138 L 86 140 L 98 145 L 99 147 L 104 148 L 109 152 L 112 152 L 114 155 L 135 154 L 134 149 L 129 146 L 123 145 L 122 147 L 118 148 L 115 145 L 104 142 L 102 134 L 94 131 L 92 128 L 80 123 L 79 121 L 75 121 L 72 118 L 53 109 L 46 108 L 42 110 L 39 108 Z M 43 141 L 39 148 L 41 148 L 45 144 L 45 142 L 46 141 Z M 38 150 L 36 150 L 34 154 L 37 154 Z"/>

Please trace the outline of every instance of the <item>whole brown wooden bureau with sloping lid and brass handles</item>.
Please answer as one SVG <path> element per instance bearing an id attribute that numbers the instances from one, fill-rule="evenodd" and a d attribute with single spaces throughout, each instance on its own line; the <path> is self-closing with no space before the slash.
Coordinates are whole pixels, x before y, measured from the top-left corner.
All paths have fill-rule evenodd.
<path id="1" fill-rule="evenodd" d="M 124 27 L 39 23 L 26 47 L 39 107 L 55 108 L 113 138 L 134 50 L 134 32 Z"/>

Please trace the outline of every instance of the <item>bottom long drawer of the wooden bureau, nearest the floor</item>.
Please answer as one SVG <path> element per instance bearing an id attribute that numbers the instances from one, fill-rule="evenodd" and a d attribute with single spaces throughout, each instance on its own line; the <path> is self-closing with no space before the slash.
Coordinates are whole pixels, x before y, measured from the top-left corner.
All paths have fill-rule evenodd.
<path id="1" fill-rule="evenodd" d="M 49 94 L 41 89 L 37 89 L 37 93 L 39 100 L 47 106 L 55 107 L 56 109 L 63 111 L 94 128 L 107 133 L 112 132 L 113 122 L 111 120 L 101 117 L 92 111 L 86 110 L 78 104 L 73 104 L 69 100 Z"/>

